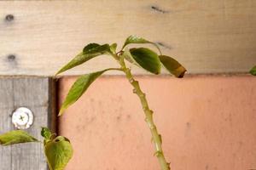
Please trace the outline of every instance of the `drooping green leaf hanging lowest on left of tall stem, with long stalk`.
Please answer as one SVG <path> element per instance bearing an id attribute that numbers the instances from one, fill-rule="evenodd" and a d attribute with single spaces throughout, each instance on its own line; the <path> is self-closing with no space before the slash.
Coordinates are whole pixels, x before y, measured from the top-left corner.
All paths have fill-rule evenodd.
<path id="1" fill-rule="evenodd" d="M 114 68 L 109 68 L 103 71 L 97 71 L 90 74 L 86 74 L 77 79 L 76 82 L 73 83 L 73 86 L 70 88 L 67 97 L 63 104 L 61 105 L 61 111 L 59 112 L 59 116 L 67 109 L 68 106 L 73 105 L 89 88 L 90 84 L 96 80 L 97 77 L 100 77 L 102 73 L 110 70 L 119 70 Z"/>

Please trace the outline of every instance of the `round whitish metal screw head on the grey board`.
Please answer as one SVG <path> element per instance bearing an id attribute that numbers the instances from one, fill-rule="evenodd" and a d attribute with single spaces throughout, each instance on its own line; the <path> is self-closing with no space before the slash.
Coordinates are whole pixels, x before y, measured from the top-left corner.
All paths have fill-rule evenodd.
<path id="1" fill-rule="evenodd" d="M 33 123 L 32 111 L 26 107 L 16 109 L 12 116 L 12 122 L 18 129 L 26 129 L 32 126 Z"/>

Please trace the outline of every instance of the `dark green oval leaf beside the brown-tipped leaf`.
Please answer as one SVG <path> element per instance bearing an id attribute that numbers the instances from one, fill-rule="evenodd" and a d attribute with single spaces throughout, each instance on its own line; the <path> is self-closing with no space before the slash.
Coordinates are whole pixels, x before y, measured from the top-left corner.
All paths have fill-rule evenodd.
<path id="1" fill-rule="evenodd" d="M 141 65 L 146 71 L 154 74 L 160 73 L 160 59 L 154 51 L 148 48 L 131 48 L 130 53 L 137 64 Z"/>

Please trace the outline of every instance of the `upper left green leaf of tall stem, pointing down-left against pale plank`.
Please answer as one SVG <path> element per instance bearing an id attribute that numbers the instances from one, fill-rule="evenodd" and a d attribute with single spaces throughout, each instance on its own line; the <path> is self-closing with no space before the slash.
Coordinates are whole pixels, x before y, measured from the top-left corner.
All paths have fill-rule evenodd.
<path id="1" fill-rule="evenodd" d="M 61 70 L 55 74 L 55 76 L 60 74 L 61 72 L 72 69 L 77 65 L 81 65 L 84 62 L 88 61 L 89 59 L 93 59 L 96 56 L 107 54 L 109 52 L 110 52 L 110 47 L 108 44 L 99 45 L 97 43 L 90 43 L 84 47 L 83 52 L 75 56 L 71 61 L 67 63 L 67 65 L 63 66 Z"/>

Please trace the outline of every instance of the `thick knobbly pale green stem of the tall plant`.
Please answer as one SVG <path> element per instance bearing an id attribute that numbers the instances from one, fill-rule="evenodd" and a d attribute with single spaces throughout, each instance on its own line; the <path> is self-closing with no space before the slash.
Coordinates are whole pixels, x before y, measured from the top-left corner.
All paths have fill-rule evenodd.
<path id="1" fill-rule="evenodd" d="M 148 124 L 150 132 L 152 134 L 152 139 L 154 141 L 154 148 L 155 148 L 155 156 L 157 156 L 158 161 L 160 162 L 161 170 L 170 170 L 170 163 L 166 162 L 166 158 L 164 156 L 164 151 L 162 149 L 162 140 L 160 133 L 158 133 L 157 128 L 153 121 L 153 111 L 149 109 L 148 101 L 146 99 L 146 95 L 143 93 L 142 89 L 140 88 L 139 83 L 133 78 L 131 74 L 131 69 L 127 68 L 125 65 L 124 58 L 119 56 L 119 65 L 121 65 L 122 70 L 125 72 L 125 76 L 131 83 L 131 86 L 134 88 L 133 93 L 137 94 L 139 99 L 141 100 L 141 104 L 143 105 L 143 111 L 145 113 L 145 121 Z"/>

